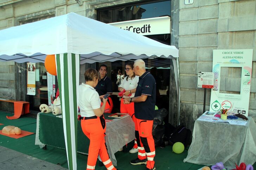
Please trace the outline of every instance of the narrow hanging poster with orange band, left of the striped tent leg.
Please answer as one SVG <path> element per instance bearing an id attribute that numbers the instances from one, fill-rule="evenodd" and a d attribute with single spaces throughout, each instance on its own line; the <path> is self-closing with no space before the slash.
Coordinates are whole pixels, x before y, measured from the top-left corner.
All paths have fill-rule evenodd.
<path id="1" fill-rule="evenodd" d="M 27 63 L 27 95 L 36 95 L 36 63 Z"/>

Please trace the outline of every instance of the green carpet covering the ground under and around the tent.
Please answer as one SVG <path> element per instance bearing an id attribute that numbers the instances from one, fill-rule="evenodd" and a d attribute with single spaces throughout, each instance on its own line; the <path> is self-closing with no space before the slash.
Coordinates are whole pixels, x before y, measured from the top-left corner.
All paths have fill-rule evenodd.
<path id="1" fill-rule="evenodd" d="M 22 130 L 36 132 L 36 119 L 21 116 L 17 120 L 8 120 L 6 116 L 12 116 L 13 114 L 5 113 L 0 111 L 0 130 L 7 125 L 14 125 Z M 64 168 L 68 169 L 68 162 L 66 158 L 66 151 L 54 147 L 47 146 L 46 150 L 40 149 L 38 145 L 35 145 L 36 134 L 25 136 L 19 139 L 10 138 L 7 136 L 0 135 L 0 145 L 9 149 L 16 150 L 26 155 L 42 159 L 47 162 L 54 164 L 60 164 Z M 57 140 L 57 139 L 56 139 Z M 202 168 L 204 165 L 197 165 L 192 163 L 184 163 L 183 159 L 187 156 L 187 150 L 181 154 L 175 154 L 172 152 L 171 146 L 165 148 L 156 148 L 156 156 L 154 158 L 155 165 L 158 170 L 197 170 Z M 146 165 L 132 165 L 129 163 L 130 160 L 135 159 L 137 154 L 130 154 L 129 152 L 117 152 L 115 154 L 117 159 L 117 168 L 119 170 L 145 170 Z M 87 156 L 83 154 L 77 154 L 77 169 L 85 170 L 87 164 Z M 105 170 L 104 166 L 100 167 L 96 165 L 96 170 Z M 254 164 L 256 169 L 256 164 Z"/>

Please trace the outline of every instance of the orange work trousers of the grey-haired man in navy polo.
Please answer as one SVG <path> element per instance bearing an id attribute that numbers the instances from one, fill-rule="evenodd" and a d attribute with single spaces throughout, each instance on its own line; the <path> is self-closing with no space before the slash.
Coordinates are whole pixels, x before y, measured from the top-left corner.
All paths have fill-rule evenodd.
<path id="1" fill-rule="evenodd" d="M 138 142 L 138 158 L 147 158 L 147 168 L 153 169 L 155 165 L 155 142 L 152 135 L 153 120 L 141 120 L 136 118 L 139 130 L 140 143 Z"/>

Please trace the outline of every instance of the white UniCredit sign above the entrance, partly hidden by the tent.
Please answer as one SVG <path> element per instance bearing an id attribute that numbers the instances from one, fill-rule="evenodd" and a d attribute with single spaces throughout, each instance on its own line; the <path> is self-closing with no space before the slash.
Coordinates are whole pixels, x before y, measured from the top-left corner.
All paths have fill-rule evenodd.
<path id="1" fill-rule="evenodd" d="M 161 16 L 156 18 L 148 18 L 141 20 L 123 21 L 109 23 L 115 27 L 132 31 L 141 35 L 156 35 L 171 33 L 171 18 L 169 16 Z"/>

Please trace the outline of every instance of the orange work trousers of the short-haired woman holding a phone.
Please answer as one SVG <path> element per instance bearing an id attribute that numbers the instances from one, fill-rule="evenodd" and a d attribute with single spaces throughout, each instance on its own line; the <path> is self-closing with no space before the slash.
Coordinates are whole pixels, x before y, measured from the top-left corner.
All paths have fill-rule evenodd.
<path id="1" fill-rule="evenodd" d="M 89 152 L 87 160 L 87 170 L 94 170 L 97 162 L 97 157 L 100 155 L 102 163 L 108 170 L 116 170 L 113 166 L 105 145 L 105 119 L 101 117 L 82 117 L 81 127 L 84 134 L 89 138 Z"/>

